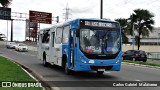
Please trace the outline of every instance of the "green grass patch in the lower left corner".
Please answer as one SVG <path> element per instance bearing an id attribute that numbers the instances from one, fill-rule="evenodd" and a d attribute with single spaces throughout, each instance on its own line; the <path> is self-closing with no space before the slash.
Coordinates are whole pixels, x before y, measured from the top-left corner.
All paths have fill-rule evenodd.
<path id="1" fill-rule="evenodd" d="M 0 90 L 43 90 L 41 87 L 2 87 L 2 81 L 9 82 L 35 82 L 20 66 L 11 62 L 9 59 L 0 56 Z"/>

